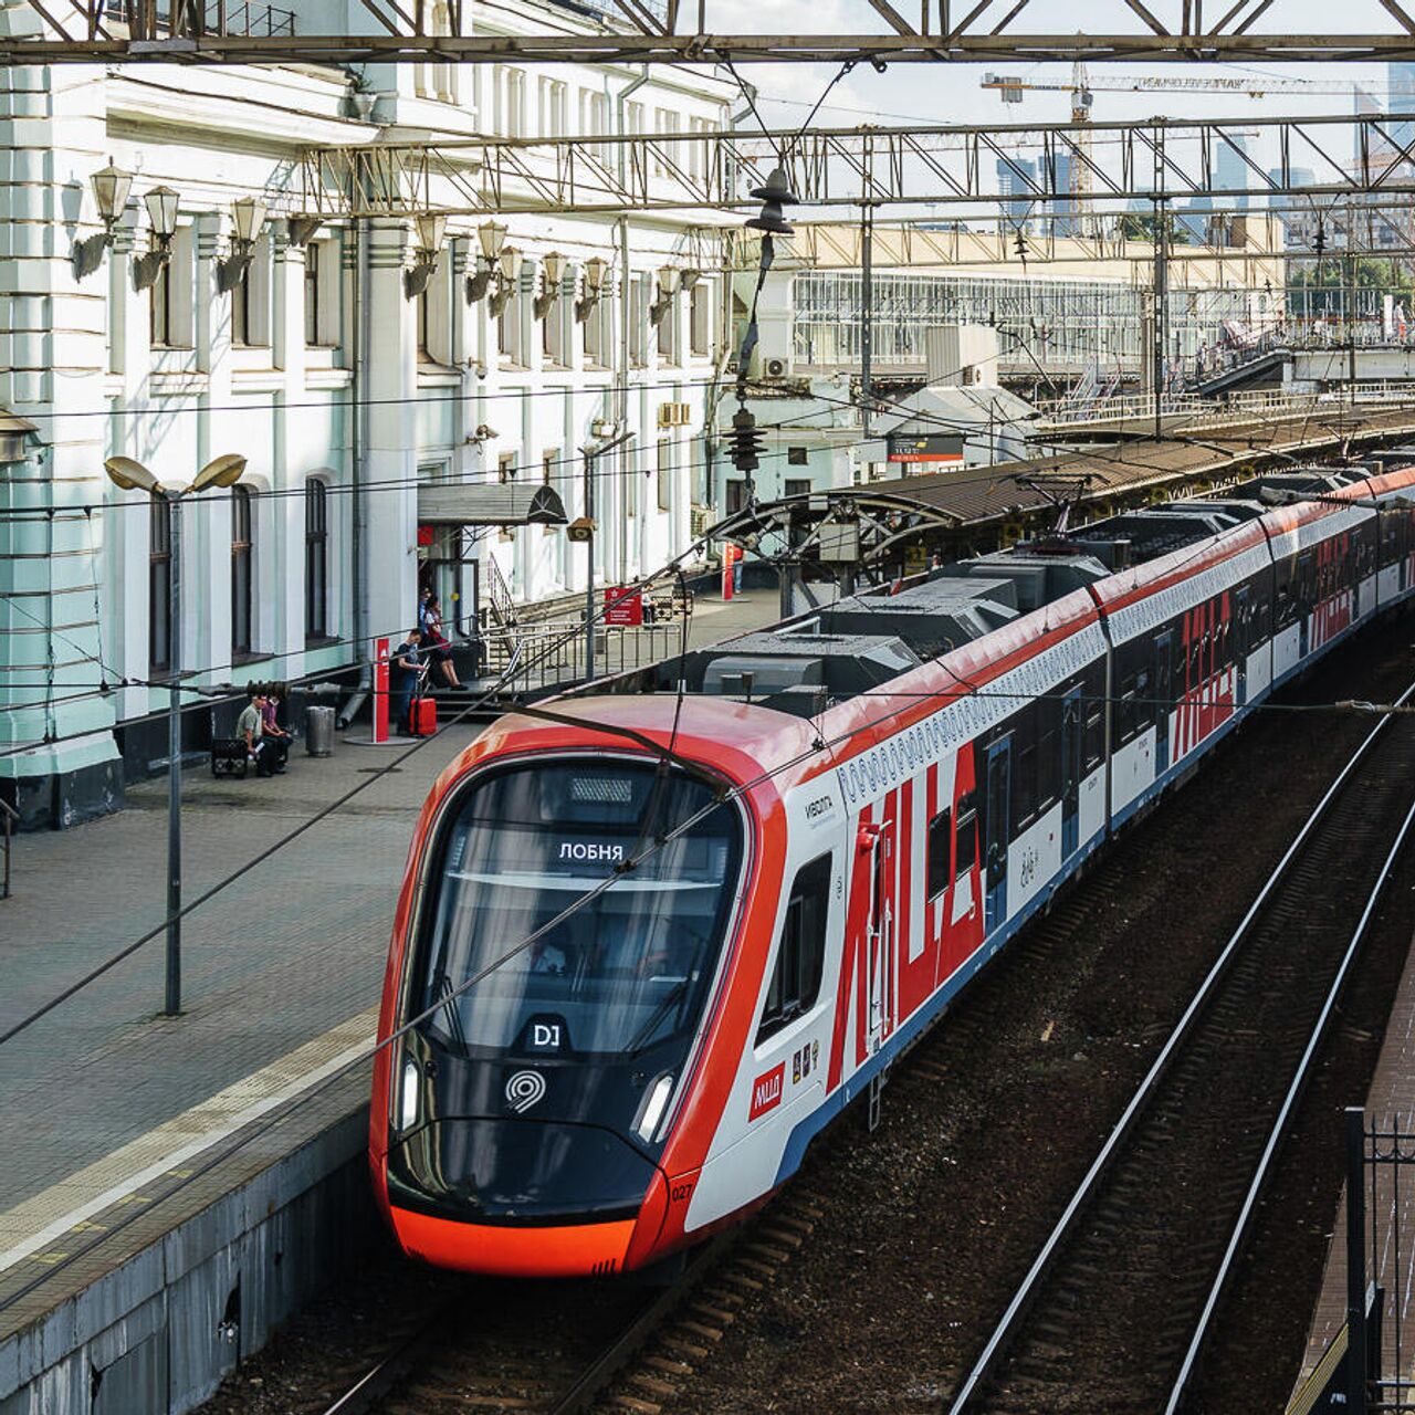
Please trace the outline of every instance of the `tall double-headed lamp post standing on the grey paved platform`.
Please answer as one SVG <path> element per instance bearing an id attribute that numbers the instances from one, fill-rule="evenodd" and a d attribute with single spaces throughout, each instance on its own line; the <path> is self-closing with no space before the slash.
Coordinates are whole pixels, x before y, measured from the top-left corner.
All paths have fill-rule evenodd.
<path id="1" fill-rule="evenodd" d="M 208 487 L 233 487 L 246 458 L 226 453 L 208 461 L 190 487 L 164 487 L 140 461 L 109 457 L 109 481 L 122 491 L 146 491 L 168 508 L 171 573 L 167 580 L 167 989 L 163 1012 L 181 1012 L 181 504 Z"/>

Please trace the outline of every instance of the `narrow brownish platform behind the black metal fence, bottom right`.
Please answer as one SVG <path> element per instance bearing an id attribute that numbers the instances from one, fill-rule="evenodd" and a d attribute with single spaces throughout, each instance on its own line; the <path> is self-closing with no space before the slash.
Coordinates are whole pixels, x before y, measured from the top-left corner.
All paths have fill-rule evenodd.
<path id="1" fill-rule="evenodd" d="M 1373 1119 L 1382 1129 L 1409 1129 L 1415 1097 L 1415 938 L 1405 961 L 1399 988 L 1391 1006 L 1385 1037 L 1375 1063 L 1375 1073 L 1365 1097 L 1367 1122 Z M 1371 1227 L 1375 1241 L 1371 1244 Z M 1385 1289 L 1384 1339 L 1394 1353 L 1395 1329 L 1399 1327 L 1399 1350 L 1415 1353 L 1415 1292 L 1409 1283 L 1409 1254 L 1415 1242 L 1415 1186 L 1402 1184 L 1394 1193 L 1382 1183 L 1380 1203 L 1367 1214 L 1368 1252 L 1375 1255 L 1375 1271 L 1367 1272 L 1367 1282 Z M 1332 1224 L 1332 1241 L 1322 1272 L 1317 1296 L 1307 1329 L 1307 1346 L 1302 1357 L 1302 1371 L 1296 1390 L 1302 1391 L 1322 1364 L 1323 1356 L 1341 1336 L 1346 1326 L 1346 1190 Z M 1324 1378 L 1324 1375 L 1323 1375 Z"/>

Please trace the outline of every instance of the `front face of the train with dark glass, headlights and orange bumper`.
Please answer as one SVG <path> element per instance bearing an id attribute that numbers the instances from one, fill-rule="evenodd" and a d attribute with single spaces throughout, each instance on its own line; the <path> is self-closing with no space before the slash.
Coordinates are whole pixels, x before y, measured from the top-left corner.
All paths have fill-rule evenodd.
<path id="1" fill-rule="evenodd" d="M 652 1249 L 659 1160 L 743 889 L 746 814 L 724 802 L 616 870 L 713 799 L 705 780 L 614 751 L 492 761 L 451 791 L 386 1030 L 432 1010 L 375 1087 L 375 1172 L 408 1254 L 574 1276 Z"/>

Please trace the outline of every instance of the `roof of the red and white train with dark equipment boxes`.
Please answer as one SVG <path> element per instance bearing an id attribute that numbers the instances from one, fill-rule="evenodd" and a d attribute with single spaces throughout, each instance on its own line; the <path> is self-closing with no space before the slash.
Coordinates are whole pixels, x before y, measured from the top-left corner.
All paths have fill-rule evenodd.
<path id="1" fill-rule="evenodd" d="M 845 596 L 768 628 L 587 685 L 559 702 L 573 702 L 576 716 L 608 722 L 606 696 L 614 695 L 613 720 L 628 720 L 628 712 L 644 730 L 672 719 L 678 730 L 709 737 L 730 723 L 734 743 L 758 760 L 775 754 L 766 741 L 773 732 L 781 734 L 780 750 L 794 751 L 807 740 L 802 732 L 815 736 L 807 719 L 824 730 L 828 712 L 832 729 L 856 719 L 865 727 L 890 719 L 879 730 L 899 730 L 916 706 L 927 710 L 923 702 L 911 705 L 911 695 L 964 695 L 1097 620 L 1098 604 L 1115 608 L 1156 594 L 1249 553 L 1269 531 L 1341 514 L 1333 501 L 1415 480 L 1408 466 L 1391 475 L 1392 463 L 1399 458 L 1388 454 L 1385 477 L 1373 475 L 1375 467 L 1295 466 L 1220 497 L 1125 511 L 934 569 L 904 589 Z M 1293 492 L 1313 499 L 1285 504 Z M 913 693 L 916 688 L 920 693 Z M 899 702 L 891 705 L 896 692 Z M 781 715 L 795 719 L 792 730 L 784 730 Z"/>

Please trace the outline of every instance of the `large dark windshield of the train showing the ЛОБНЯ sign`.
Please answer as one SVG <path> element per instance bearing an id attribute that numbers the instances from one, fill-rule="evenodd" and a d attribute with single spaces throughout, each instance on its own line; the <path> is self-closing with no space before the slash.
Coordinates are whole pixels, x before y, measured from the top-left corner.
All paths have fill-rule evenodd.
<path id="1" fill-rule="evenodd" d="M 621 1056 L 688 1033 L 734 893 L 737 812 L 706 811 L 633 869 L 620 866 L 712 799 L 676 770 L 604 758 L 477 781 L 429 901 L 417 1010 L 446 1005 L 426 1030 L 468 1053 Z"/>

